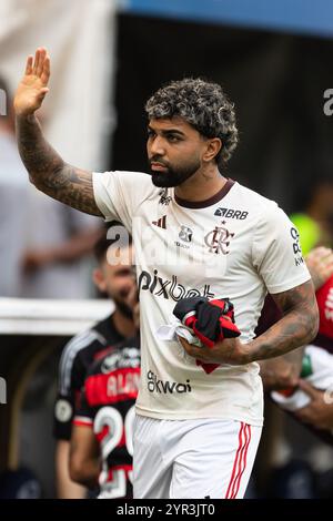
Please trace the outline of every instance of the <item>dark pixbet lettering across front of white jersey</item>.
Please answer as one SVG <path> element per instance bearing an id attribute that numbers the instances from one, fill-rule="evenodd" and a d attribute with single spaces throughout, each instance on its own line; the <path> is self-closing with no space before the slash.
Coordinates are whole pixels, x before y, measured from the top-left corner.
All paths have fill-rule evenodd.
<path id="1" fill-rule="evenodd" d="M 149 272 L 141 272 L 139 276 L 139 292 L 149 290 L 151 294 L 160 297 L 179 302 L 182 298 L 189 297 L 208 297 L 213 298 L 214 293 L 210 290 L 211 286 L 205 284 L 203 290 L 200 292 L 198 288 L 185 288 L 182 284 L 178 282 L 176 275 L 172 275 L 172 279 L 163 279 L 159 276 L 158 269 L 154 269 L 154 275 L 152 276 Z"/>

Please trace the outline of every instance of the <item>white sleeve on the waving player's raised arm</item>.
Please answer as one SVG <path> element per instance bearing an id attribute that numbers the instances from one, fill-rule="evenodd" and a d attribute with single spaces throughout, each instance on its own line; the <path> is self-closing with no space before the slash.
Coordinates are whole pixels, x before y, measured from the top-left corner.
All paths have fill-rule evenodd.
<path id="1" fill-rule="evenodd" d="M 151 176 L 141 172 L 94 172 L 95 203 L 105 221 L 120 221 L 128 231 L 140 203 L 152 192 Z"/>

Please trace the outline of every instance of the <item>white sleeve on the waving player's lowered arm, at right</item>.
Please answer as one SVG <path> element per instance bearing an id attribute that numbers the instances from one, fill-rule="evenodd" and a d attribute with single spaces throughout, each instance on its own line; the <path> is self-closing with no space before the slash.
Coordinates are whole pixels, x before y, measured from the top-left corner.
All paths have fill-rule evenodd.
<path id="1" fill-rule="evenodd" d="M 287 292 L 311 278 L 302 256 L 299 232 L 275 203 L 259 218 L 252 256 L 271 294 Z"/>

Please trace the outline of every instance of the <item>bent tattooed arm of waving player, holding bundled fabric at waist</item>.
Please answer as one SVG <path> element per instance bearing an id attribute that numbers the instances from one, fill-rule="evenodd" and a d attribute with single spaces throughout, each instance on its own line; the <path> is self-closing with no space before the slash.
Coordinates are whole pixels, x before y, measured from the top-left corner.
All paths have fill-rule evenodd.
<path id="1" fill-rule="evenodd" d="M 319 313 L 312 282 L 272 297 L 284 316 L 249 344 L 232 338 L 210 349 L 193 347 L 179 337 L 182 346 L 189 355 L 205 362 L 240 365 L 281 356 L 309 344 L 319 328 Z"/>

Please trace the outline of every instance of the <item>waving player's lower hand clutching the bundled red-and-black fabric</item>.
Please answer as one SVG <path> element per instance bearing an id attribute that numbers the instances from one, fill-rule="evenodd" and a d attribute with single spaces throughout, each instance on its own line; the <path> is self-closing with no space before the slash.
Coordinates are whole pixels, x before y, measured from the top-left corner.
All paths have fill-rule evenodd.
<path id="1" fill-rule="evenodd" d="M 239 366 L 251 361 L 246 344 L 242 344 L 239 338 L 226 338 L 213 347 L 198 347 L 189 344 L 180 336 L 178 338 L 188 355 L 205 364 L 231 364 Z"/>

